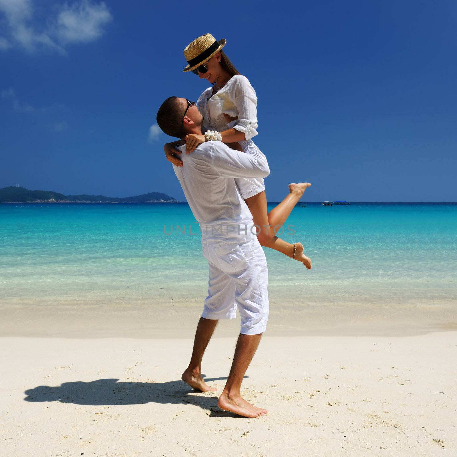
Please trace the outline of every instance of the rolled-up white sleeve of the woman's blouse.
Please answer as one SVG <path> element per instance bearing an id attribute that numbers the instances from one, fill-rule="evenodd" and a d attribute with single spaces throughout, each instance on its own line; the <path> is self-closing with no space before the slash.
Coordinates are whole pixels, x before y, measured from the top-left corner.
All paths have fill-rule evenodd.
<path id="1" fill-rule="evenodd" d="M 243 132 L 247 140 L 257 132 L 257 96 L 249 80 L 242 75 L 235 76 L 233 93 L 230 98 L 238 110 L 238 119 L 228 123 L 228 128 Z"/>

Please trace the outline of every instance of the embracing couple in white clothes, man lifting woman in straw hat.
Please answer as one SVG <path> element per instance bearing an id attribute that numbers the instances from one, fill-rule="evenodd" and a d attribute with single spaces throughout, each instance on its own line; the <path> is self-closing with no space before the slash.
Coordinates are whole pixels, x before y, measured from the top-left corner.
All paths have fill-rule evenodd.
<path id="1" fill-rule="evenodd" d="M 182 380 L 203 392 L 217 390 L 202 379 L 203 353 L 218 319 L 233 319 L 239 309 L 241 331 L 218 406 L 254 418 L 267 410 L 244 400 L 240 388 L 268 319 L 268 270 L 261 245 L 311 268 L 301 243 L 289 244 L 275 235 L 310 184 L 289 185 L 289 195 L 267 213 L 263 178 L 270 170 L 251 140 L 257 134 L 257 99 L 247 78 L 221 50 L 225 43 L 207 33 L 186 47 L 183 71 L 212 86 L 197 104 L 169 97 L 159 108 L 157 123 L 166 134 L 180 138 L 165 145 L 165 154 L 200 223 L 209 264 L 208 296 Z"/>

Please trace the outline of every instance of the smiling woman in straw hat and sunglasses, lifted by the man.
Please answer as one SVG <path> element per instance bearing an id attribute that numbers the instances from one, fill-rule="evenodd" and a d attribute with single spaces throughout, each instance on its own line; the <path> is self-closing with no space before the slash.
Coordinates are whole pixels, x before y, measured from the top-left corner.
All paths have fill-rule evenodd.
<path id="1" fill-rule="evenodd" d="M 191 71 L 212 84 L 202 93 L 196 104 L 204 118 L 207 132 L 205 135 L 187 135 L 186 154 L 190 154 L 198 144 L 216 138 L 227 143 L 230 148 L 242 151 L 238 142 L 257 135 L 255 90 L 223 53 L 225 43 L 225 39 L 217 41 L 207 33 L 198 37 L 184 50 L 188 64 L 183 71 Z M 165 144 L 164 150 L 173 165 L 182 166 L 182 161 L 175 156 L 180 154 L 174 149 L 177 143 L 179 141 Z M 303 254 L 303 244 L 290 244 L 276 237 L 276 232 L 286 222 L 293 207 L 311 184 L 289 184 L 287 197 L 268 213 L 263 179 L 237 178 L 235 181 L 252 214 L 254 224 L 260 228 L 257 233 L 260 244 L 303 262 L 306 268 L 311 269 L 311 260 Z"/>

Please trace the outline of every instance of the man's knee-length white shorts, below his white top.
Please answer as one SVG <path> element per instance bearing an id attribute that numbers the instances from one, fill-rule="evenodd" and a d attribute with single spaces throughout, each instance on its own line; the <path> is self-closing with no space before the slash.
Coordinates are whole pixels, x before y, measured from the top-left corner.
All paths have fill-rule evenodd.
<path id="1" fill-rule="evenodd" d="M 208 260 L 208 296 L 202 317 L 234 319 L 241 316 L 243 335 L 257 335 L 268 320 L 268 268 L 257 238 L 243 244 L 203 242 Z"/>

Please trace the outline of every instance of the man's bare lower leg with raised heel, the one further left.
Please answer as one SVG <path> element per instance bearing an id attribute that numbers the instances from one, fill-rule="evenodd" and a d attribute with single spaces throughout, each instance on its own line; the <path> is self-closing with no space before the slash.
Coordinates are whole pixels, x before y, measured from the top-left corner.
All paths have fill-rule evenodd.
<path id="1" fill-rule="evenodd" d="M 213 335 L 214 329 L 218 324 L 218 319 L 205 319 L 201 317 L 198 321 L 195 333 L 194 349 L 191 361 L 186 371 L 182 373 L 181 379 L 196 390 L 202 392 L 215 392 L 217 387 L 209 387 L 202 378 L 202 358 L 205 349 Z"/>

